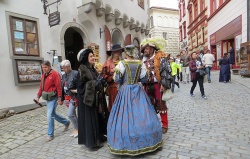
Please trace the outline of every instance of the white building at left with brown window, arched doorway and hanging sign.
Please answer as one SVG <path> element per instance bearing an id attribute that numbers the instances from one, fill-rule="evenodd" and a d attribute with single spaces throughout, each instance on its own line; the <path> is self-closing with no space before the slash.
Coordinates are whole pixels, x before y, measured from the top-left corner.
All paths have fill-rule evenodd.
<path id="1" fill-rule="evenodd" d="M 139 44 L 149 33 L 146 0 L 0 1 L 1 108 L 32 105 L 41 77 L 41 61 L 57 69 L 69 59 L 78 68 L 80 49 L 95 49 L 103 63 L 113 44 Z M 27 6 L 31 6 L 27 9 Z M 132 12 L 133 11 L 133 12 Z M 44 14 L 44 13 L 47 13 Z M 91 46 L 90 46 L 91 45 Z"/>

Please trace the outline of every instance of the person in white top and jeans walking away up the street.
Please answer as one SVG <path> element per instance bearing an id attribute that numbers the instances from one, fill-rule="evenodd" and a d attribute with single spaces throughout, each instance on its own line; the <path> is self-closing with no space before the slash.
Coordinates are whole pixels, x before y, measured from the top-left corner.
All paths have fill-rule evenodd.
<path id="1" fill-rule="evenodd" d="M 205 67 L 206 67 L 208 83 L 211 83 L 210 71 L 212 69 L 214 61 L 215 61 L 214 55 L 210 53 L 210 50 L 207 50 L 206 54 L 202 58 L 202 62 L 203 64 L 205 64 Z"/>

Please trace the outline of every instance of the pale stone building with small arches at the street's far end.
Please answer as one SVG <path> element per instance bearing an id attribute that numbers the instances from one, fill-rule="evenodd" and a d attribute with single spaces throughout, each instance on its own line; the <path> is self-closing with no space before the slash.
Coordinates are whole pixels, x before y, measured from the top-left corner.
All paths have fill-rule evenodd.
<path id="1" fill-rule="evenodd" d="M 166 52 L 179 53 L 179 13 L 177 9 L 150 7 L 150 37 L 162 36 L 167 41 Z"/>

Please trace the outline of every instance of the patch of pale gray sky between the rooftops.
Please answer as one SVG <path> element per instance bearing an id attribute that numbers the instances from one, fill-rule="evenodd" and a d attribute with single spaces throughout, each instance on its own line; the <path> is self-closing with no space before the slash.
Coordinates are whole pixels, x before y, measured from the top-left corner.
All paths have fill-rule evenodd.
<path id="1" fill-rule="evenodd" d="M 178 9 L 177 0 L 150 0 L 150 7 L 164 7 Z"/>

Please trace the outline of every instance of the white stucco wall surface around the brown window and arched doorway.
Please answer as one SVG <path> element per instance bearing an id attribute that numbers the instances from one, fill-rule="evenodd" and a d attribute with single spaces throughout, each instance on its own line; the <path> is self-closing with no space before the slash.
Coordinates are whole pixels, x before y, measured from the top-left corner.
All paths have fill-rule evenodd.
<path id="1" fill-rule="evenodd" d="M 49 1 L 52 2 L 52 1 Z M 109 23 L 105 22 L 105 17 L 96 17 L 95 10 L 89 14 L 84 14 L 89 18 L 88 22 L 81 23 L 83 17 L 78 15 L 77 7 L 82 4 L 83 1 L 63 0 L 58 6 L 59 12 L 61 13 L 60 25 L 54 26 L 52 28 L 48 25 L 48 15 L 43 14 L 43 4 L 41 1 L 34 0 L 1 0 L 0 1 L 0 66 L 1 66 L 1 82 L 0 89 L 2 90 L 0 95 L 0 109 L 22 106 L 32 104 L 32 99 L 36 97 L 38 91 L 38 85 L 34 86 L 15 86 L 13 66 L 11 56 L 12 50 L 11 44 L 9 43 L 9 24 L 7 24 L 6 12 L 16 13 L 23 16 L 28 16 L 38 19 L 38 36 L 39 36 L 39 47 L 40 47 L 40 57 L 45 60 L 52 61 L 52 55 L 47 54 L 51 49 L 57 50 L 58 55 L 65 57 L 64 52 L 64 33 L 65 30 L 74 26 L 81 30 L 84 34 L 84 43 L 89 44 L 96 43 L 100 45 L 100 56 L 101 62 L 106 59 L 106 47 L 104 33 L 102 33 L 102 38 L 100 39 L 99 28 L 104 28 L 107 25 L 110 29 L 115 28 L 114 21 Z M 133 17 L 140 23 L 147 24 L 147 1 L 145 0 L 145 9 L 141 9 L 137 1 L 128 0 L 126 2 L 118 2 L 117 0 L 103 0 L 103 4 L 109 4 L 113 9 L 118 9 L 120 12 L 126 13 L 128 17 Z M 29 6 L 29 7 L 27 7 Z M 55 11 L 55 6 L 50 7 L 50 11 Z M 80 18 L 80 19 L 79 19 Z M 137 37 L 142 40 L 145 37 L 145 33 L 135 32 L 135 30 L 130 30 L 129 28 L 123 28 L 122 25 L 117 26 L 123 35 L 123 38 L 127 34 L 131 34 L 132 38 Z M 61 39 L 60 39 L 61 38 Z M 133 40 L 133 39 L 132 39 Z M 28 58 L 28 57 L 27 57 Z"/>

